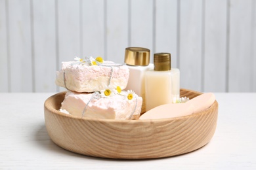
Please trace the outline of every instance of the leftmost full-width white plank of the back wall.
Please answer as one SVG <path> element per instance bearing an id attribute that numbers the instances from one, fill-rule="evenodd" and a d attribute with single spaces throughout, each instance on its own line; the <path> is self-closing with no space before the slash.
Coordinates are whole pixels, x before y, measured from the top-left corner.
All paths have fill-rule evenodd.
<path id="1" fill-rule="evenodd" d="M 30 1 L 10 0 L 10 74 L 11 92 L 33 92 Z"/>

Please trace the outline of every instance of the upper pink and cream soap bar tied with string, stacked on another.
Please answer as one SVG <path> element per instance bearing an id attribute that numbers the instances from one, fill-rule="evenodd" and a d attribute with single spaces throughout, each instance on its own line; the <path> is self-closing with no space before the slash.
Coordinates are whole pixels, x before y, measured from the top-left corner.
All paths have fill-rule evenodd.
<path id="1" fill-rule="evenodd" d="M 104 61 L 104 65 L 68 61 L 62 62 L 62 69 L 56 72 L 55 83 L 74 92 L 96 92 L 106 86 L 110 88 L 119 86 L 123 90 L 127 86 L 128 79 L 127 65 L 115 65 L 112 61 Z"/>

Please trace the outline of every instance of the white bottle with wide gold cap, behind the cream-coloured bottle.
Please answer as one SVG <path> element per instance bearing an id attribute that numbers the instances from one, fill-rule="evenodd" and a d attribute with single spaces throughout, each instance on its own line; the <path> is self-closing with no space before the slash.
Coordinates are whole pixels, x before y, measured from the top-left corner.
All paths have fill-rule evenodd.
<path id="1" fill-rule="evenodd" d="M 125 63 L 130 73 L 125 90 L 133 90 L 142 97 L 141 112 L 145 112 L 144 73 L 154 68 L 154 65 L 150 63 L 150 50 L 142 47 L 125 48 Z"/>

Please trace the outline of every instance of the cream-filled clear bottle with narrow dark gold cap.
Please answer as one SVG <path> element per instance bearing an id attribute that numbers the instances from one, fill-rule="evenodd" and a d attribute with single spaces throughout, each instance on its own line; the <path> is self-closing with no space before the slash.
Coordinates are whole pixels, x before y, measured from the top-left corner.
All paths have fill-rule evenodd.
<path id="1" fill-rule="evenodd" d="M 180 71 L 171 68 L 171 54 L 154 54 L 154 69 L 145 73 L 146 111 L 173 103 L 180 94 Z"/>

